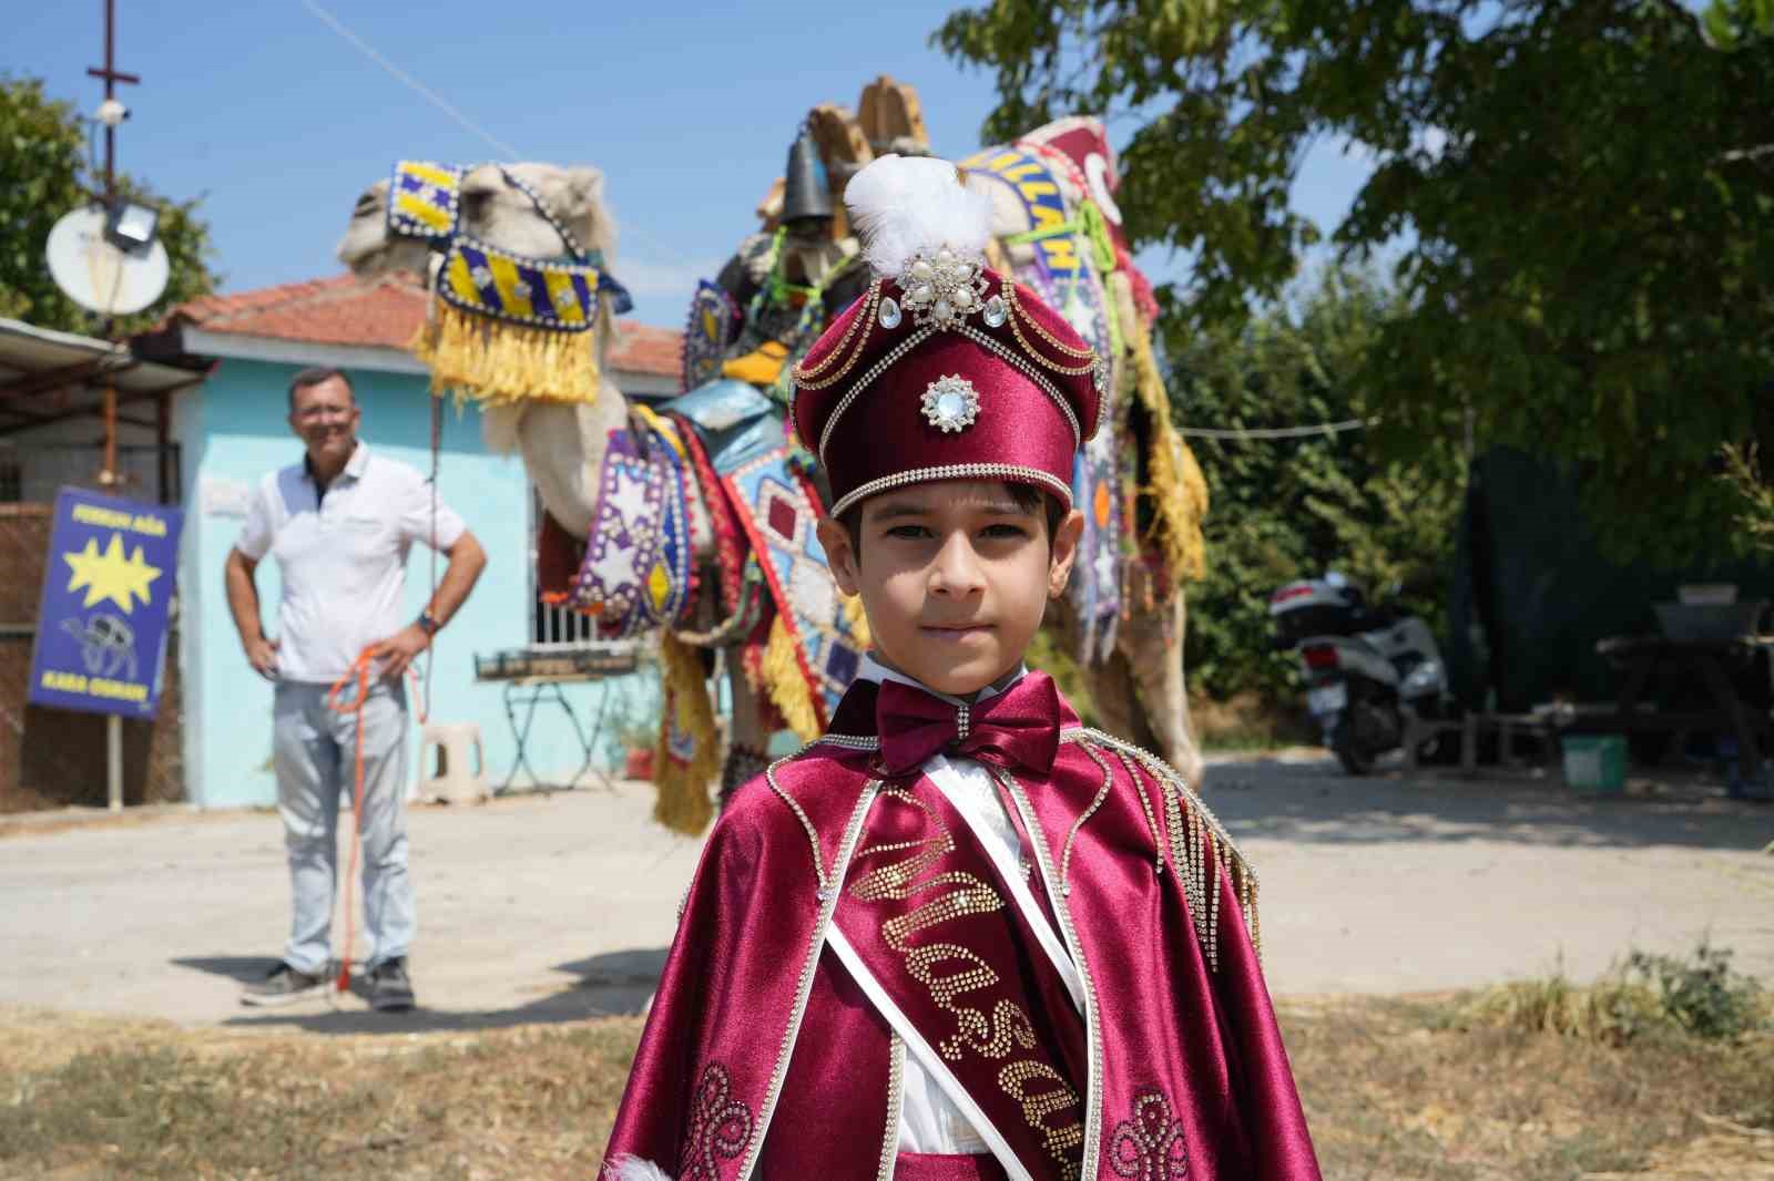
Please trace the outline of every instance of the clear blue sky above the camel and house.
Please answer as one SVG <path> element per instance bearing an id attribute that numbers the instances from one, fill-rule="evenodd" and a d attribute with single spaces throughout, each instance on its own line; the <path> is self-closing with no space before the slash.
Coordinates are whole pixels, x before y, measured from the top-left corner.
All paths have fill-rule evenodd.
<path id="1" fill-rule="evenodd" d="M 525 160 L 593 163 L 621 227 L 617 273 L 635 317 L 678 326 L 695 280 L 756 227 L 807 108 L 853 105 L 887 73 L 917 87 L 933 145 L 979 145 L 990 78 L 928 41 L 954 2 L 880 5 L 325 4 L 389 62 Z M 0 73 L 39 76 L 92 112 L 103 0 L 11 5 Z M 420 16 L 426 12 L 426 16 Z M 158 192 L 202 195 L 224 291 L 339 271 L 351 202 L 399 156 L 479 161 L 497 149 L 403 85 L 303 0 L 117 0 L 117 67 L 131 119 L 119 167 Z M 1366 177 L 1322 145 L 1295 207 L 1330 229 Z M 1185 259 L 1146 252 L 1162 282 Z"/>

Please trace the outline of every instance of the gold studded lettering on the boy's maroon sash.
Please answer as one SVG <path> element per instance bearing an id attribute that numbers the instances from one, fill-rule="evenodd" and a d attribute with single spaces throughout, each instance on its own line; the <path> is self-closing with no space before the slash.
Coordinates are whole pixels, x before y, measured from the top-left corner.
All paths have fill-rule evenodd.
<path id="1" fill-rule="evenodd" d="M 990 883 L 967 871 L 938 871 L 944 856 L 954 853 L 954 835 L 935 809 L 903 787 L 882 791 L 883 800 L 896 800 L 924 814 L 930 837 L 922 841 L 896 841 L 857 849 L 857 864 L 871 856 L 905 853 L 912 856 L 885 862 L 860 874 L 850 887 L 852 897 L 864 903 L 908 901 L 930 890 L 946 892 L 921 903 L 907 913 L 882 924 L 882 940 L 905 959 L 907 974 L 930 989 L 938 1009 L 954 1016 L 954 1034 L 937 1043 L 937 1053 L 949 1062 L 960 1062 L 965 1052 L 988 1060 L 1002 1060 L 1017 1050 L 1034 1050 L 1034 1023 L 1029 1013 L 1009 998 L 1001 998 L 988 1018 L 976 1007 L 956 1004 L 963 993 L 992 988 L 999 974 L 974 950 L 956 942 L 912 945 L 919 931 L 1004 910 L 1004 899 Z M 935 872 L 933 872 L 935 871 Z M 928 876 L 926 876 L 928 874 Z M 1047 1087 L 1031 1087 L 1045 1082 Z M 1059 1176 L 1077 1181 L 1079 1163 L 1068 1156 L 1084 1144 L 1084 1126 L 1073 1117 L 1059 1126 L 1047 1122 L 1048 1115 L 1079 1108 L 1079 1092 L 1054 1068 L 1038 1060 L 1013 1060 L 997 1073 L 997 1083 L 1022 1108 L 1024 1119 L 1041 1137 L 1041 1146 L 1059 1161 Z"/>

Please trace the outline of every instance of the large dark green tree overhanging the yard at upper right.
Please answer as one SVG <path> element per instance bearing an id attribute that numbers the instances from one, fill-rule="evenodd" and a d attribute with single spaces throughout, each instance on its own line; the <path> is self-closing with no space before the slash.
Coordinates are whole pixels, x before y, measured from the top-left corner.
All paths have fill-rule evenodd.
<path id="1" fill-rule="evenodd" d="M 1574 465 L 1618 557 L 1684 559 L 1733 539 L 1719 445 L 1774 438 L 1770 25 L 1769 0 L 992 0 L 935 41 L 995 73 L 992 138 L 1132 119 L 1119 204 L 1194 252 L 1194 332 L 1316 241 L 1288 207 L 1315 142 L 1371 156 L 1332 241 L 1401 255 L 1359 378 L 1385 436 L 1469 406 L 1480 445 Z"/>

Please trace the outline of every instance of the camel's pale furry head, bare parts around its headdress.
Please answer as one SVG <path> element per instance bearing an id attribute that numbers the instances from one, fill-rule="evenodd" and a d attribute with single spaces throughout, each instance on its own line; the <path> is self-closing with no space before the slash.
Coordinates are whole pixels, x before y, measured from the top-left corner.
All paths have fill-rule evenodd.
<path id="1" fill-rule="evenodd" d="M 548 163 L 506 165 L 529 184 L 585 250 L 616 252 L 616 220 L 603 204 L 603 172 Z M 339 261 L 358 278 L 396 271 L 426 275 L 428 245 L 389 236 L 389 181 L 364 190 L 339 241 Z M 566 252 L 561 234 L 529 197 L 506 183 L 498 165 L 477 165 L 461 179 L 461 229 L 513 254 L 552 259 Z"/>

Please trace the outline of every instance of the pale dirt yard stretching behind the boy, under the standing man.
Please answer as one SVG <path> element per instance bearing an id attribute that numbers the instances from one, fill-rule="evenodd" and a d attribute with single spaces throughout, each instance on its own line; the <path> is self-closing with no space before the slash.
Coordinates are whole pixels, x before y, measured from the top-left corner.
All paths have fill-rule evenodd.
<path id="1" fill-rule="evenodd" d="M 1208 803 L 1256 864 L 1277 995 L 1417 993 L 1701 938 L 1774 982 L 1774 805 L 1636 780 L 1586 800 L 1556 778 L 1222 759 Z M 161 809 L 0 821 L 0 1004 L 326 1032 L 490 1028 L 635 1013 L 697 842 L 648 821 L 642 784 L 415 807 L 420 1011 L 353 995 L 252 1011 L 287 880 L 273 812 Z M 362 949 L 360 949 L 362 950 Z"/>

